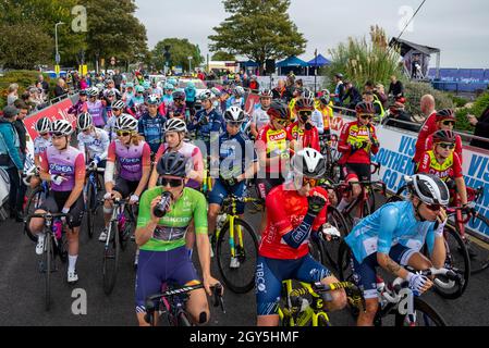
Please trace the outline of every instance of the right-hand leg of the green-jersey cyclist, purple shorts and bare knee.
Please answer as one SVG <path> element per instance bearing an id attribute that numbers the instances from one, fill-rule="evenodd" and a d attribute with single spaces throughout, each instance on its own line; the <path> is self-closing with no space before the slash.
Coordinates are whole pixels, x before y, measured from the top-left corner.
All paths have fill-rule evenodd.
<path id="1" fill-rule="evenodd" d="M 168 251 L 167 261 L 169 262 L 168 269 L 170 281 L 173 281 L 181 286 L 200 284 L 197 271 L 188 259 L 188 253 L 185 247 Z M 197 325 L 204 325 L 209 321 L 209 304 L 207 303 L 207 296 L 204 289 L 197 289 L 190 293 L 186 311 L 191 315 L 192 322 Z"/>

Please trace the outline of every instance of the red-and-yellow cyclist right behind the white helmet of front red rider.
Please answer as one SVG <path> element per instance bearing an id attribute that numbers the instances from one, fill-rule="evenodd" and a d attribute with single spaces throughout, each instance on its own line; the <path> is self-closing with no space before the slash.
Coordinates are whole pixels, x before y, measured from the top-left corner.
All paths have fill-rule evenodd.
<path id="1" fill-rule="evenodd" d="M 313 148 L 320 151 L 319 147 L 319 129 L 323 130 L 322 116 L 317 115 L 316 120 L 313 120 L 314 108 L 314 95 L 309 90 L 304 90 L 303 95 L 297 99 L 294 105 L 294 110 L 297 121 L 289 125 L 286 132 L 290 134 L 294 141 L 294 146 L 298 148 Z M 315 122 L 318 127 L 315 125 Z"/>

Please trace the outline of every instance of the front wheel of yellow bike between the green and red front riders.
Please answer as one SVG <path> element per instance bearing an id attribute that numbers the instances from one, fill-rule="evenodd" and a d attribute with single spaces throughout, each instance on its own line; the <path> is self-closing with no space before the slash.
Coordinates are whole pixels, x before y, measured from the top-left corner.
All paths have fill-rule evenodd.
<path id="1" fill-rule="evenodd" d="M 234 258 L 231 254 L 235 248 Z M 224 284 L 235 294 L 246 294 L 255 286 L 255 268 L 258 259 L 258 238 L 248 223 L 234 220 L 233 238 L 228 221 L 219 234 L 216 245 L 219 272 Z"/>

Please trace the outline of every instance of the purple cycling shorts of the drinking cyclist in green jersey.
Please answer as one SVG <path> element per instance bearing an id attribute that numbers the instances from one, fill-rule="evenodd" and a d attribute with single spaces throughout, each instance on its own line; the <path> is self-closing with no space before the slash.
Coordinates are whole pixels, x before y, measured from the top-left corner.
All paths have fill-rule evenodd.
<path id="1" fill-rule="evenodd" d="M 136 313 L 146 312 L 148 296 L 161 293 L 163 284 L 200 284 L 185 247 L 170 251 L 139 251 L 136 274 Z"/>

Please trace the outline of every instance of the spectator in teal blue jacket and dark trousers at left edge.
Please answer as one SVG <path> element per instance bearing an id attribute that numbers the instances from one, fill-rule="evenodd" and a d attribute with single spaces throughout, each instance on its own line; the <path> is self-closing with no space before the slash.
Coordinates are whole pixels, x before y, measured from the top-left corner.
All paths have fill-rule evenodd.
<path id="1" fill-rule="evenodd" d="M 24 164 L 21 158 L 19 135 L 13 125 L 17 115 L 19 109 L 15 107 L 10 105 L 3 109 L 3 117 L 0 119 L 0 166 L 9 173 L 10 178 L 10 217 L 22 222 L 24 216 L 21 211 L 24 200 L 19 201 L 19 192 Z M 21 209 L 17 210 L 19 207 Z"/>

